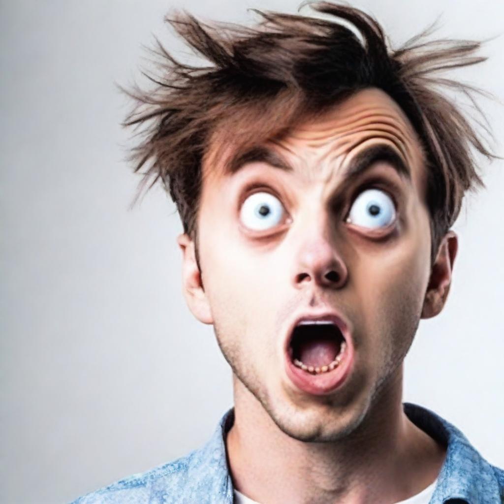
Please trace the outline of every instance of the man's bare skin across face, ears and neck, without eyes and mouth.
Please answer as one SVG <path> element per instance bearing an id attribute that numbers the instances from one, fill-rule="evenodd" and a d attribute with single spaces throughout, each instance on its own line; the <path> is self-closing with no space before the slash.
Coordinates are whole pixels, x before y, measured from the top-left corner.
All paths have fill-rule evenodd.
<path id="1" fill-rule="evenodd" d="M 348 178 L 352 162 L 378 146 L 409 175 L 376 159 Z M 258 160 L 228 173 L 223 162 L 204 165 L 201 272 L 194 242 L 178 237 L 187 304 L 213 324 L 233 370 L 233 484 L 262 504 L 411 497 L 434 481 L 446 452 L 403 412 L 403 360 L 420 319 L 443 308 L 457 252 L 450 231 L 430 264 L 417 137 L 387 94 L 366 89 L 268 148 L 287 168 Z M 348 221 L 369 188 L 395 207 L 383 229 Z M 272 195 L 280 209 L 261 231 L 240 213 L 256 193 Z M 300 314 L 334 310 L 350 329 L 353 367 L 333 392 L 308 394 L 285 371 L 288 328 Z"/>

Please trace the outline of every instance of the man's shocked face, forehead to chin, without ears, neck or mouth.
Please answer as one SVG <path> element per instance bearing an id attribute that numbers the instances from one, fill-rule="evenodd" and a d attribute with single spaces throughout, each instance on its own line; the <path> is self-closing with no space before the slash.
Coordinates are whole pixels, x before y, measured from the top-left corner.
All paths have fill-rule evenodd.
<path id="1" fill-rule="evenodd" d="M 334 440 L 378 392 L 401 386 L 430 273 L 422 155 L 408 119 L 377 89 L 265 147 L 286 167 L 260 158 L 233 173 L 218 160 L 204 166 L 205 295 L 225 358 L 274 422 L 297 439 Z M 286 371 L 285 344 L 298 316 L 322 312 L 346 322 L 352 364 L 338 387 L 310 393 Z"/>

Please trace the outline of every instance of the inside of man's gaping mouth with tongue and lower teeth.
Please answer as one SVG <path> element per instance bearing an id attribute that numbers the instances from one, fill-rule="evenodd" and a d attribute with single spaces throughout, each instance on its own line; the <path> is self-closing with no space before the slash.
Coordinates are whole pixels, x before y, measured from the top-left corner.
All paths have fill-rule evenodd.
<path id="1" fill-rule="evenodd" d="M 292 333 L 292 363 L 311 374 L 332 371 L 345 356 L 347 343 L 340 328 L 330 321 L 303 321 Z"/>

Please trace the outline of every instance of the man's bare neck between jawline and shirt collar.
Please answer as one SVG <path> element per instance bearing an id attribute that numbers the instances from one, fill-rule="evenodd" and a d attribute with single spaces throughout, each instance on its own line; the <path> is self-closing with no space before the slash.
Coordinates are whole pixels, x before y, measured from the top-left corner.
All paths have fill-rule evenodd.
<path id="1" fill-rule="evenodd" d="M 402 406 L 402 366 L 360 424 L 331 443 L 294 439 L 233 376 L 235 420 L 226 448 L 233 484 L 258 502 L 398 502 L 430 485 L 445 450 Z"/>

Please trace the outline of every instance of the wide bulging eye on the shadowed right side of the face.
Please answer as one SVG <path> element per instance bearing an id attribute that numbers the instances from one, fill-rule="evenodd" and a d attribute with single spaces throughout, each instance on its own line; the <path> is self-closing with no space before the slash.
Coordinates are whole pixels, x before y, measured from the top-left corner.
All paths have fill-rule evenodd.
<path id="1" fill-rule="evenodd" d="M 395 218 L 396 208 L 390 196 L 379 189 L 367 189 L 353 202 L 347 222 L 377 229 L 387 227 Z"/>

